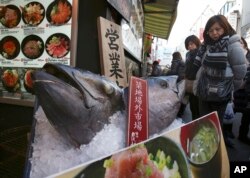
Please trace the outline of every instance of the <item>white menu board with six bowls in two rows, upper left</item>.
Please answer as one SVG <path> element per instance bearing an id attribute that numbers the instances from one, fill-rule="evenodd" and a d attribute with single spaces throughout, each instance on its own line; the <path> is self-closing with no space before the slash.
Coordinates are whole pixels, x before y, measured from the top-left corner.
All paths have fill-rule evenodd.
<path id="1" fill-rule="evenodd" d="M 72 0 L 0 0 L 0 67 L 70 65 Z"/>

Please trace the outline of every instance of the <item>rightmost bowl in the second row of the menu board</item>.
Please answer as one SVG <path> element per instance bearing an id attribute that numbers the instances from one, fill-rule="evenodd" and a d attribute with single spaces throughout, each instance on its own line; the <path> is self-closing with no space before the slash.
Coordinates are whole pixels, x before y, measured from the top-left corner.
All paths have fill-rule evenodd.
<path id="1" fill-rule="evenodd" d="M 53 58 L 62 58 L 70 51 L 70 39 L 63 33 L 52 34 L 46 40 L 46 51 Z"/>

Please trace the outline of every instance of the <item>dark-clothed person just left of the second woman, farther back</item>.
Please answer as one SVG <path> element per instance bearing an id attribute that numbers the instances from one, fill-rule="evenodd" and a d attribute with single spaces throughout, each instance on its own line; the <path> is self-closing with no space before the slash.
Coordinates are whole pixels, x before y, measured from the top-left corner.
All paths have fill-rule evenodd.
<path id="1" fill-rule="evenodd" d="M 167 75 L 178 75 L 178 80 L 181 81 L 184 79 L 185 75 L 185 63 L 182 60 L 181 53 L 176 51 L 172 54 L 171 67 Z"/>

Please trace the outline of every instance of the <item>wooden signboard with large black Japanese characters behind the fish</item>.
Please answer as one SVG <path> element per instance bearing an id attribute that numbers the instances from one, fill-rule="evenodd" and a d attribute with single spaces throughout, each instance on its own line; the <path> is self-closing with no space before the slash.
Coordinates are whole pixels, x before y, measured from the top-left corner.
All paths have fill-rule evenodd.
<path id="1" fill-rule="evenodd" d="M 121 27 L 103 17 L 97 19 L 102 74 L 120 87 L 128 86 Z"/>

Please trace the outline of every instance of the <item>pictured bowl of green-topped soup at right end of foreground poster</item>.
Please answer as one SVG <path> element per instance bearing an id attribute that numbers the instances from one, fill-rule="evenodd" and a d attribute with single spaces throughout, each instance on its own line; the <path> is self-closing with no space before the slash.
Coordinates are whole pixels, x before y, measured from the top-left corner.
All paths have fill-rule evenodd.
<path id="1" fill-rule="evenodd" d="M 204 116 L 181 128 L 181 145 L 194 177 L 220 177 L 221 174 L 221 128 L 214 116 Z"/>

